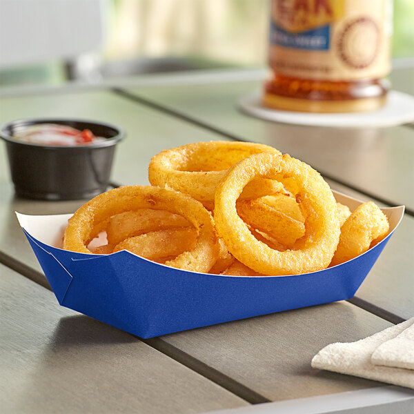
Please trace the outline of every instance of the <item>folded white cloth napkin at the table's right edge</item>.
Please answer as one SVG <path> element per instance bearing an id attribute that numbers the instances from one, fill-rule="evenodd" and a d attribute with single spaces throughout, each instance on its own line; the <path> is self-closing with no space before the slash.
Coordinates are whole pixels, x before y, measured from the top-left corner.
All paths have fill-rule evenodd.
<path id="1" fill-rule="evenodd" d="M 357 342 L 325 346 L 312 366 L 414 388 L 414 317 Z"/>

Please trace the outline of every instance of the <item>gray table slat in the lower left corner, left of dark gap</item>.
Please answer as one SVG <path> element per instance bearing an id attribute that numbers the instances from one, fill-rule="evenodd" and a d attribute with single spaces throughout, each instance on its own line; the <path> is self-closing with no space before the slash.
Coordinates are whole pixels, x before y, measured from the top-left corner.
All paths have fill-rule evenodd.
<path id="1" fill-rule="evenodd" d="M 244 400 L 0 265 L 3 413 L 195 413 Z"/>

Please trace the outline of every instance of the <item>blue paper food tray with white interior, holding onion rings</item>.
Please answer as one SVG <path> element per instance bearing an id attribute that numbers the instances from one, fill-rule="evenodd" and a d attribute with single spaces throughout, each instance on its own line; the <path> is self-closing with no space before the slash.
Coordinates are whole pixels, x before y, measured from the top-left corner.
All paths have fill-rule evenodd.
<path id="1" fill-rule="evenodd" d="M 362 201 L 335 193 L 354 210 Z M 59 304 L 142 338 L 349 299 L 402 219 L 384 208 L 390 234 L 363 255 L 319 272 L 238 277 L 188 272 L 126 250 L 86 255 L 59 248 L 71 215 L 17 213 Z"/>

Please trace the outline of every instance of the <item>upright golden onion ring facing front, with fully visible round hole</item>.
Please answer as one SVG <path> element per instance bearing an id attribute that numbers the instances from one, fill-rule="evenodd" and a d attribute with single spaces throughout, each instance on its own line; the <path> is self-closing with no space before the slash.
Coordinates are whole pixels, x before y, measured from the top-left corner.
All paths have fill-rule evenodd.
<path id="1" fill-rule="evenodd" d="M 299 250 L 280 252 L 259 242 L 237 215 L 236 201 L 256 177 L 279 179 L 300 200 L 306 233 Z M 330 264 L 339 241 L 337 205 L 328 184 L 304 162 L 270 152 L 251 155 L 230 168 L 216 190 L 215 224 L 230 253 L 265 275 L 322 270 Z"/>

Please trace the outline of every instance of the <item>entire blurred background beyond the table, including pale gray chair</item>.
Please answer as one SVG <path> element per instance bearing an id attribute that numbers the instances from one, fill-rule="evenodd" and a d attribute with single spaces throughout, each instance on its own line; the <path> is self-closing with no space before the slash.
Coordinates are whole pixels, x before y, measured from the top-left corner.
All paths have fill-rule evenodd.
<path id="1" fill-rule="evenodd" d="M 392 54 L 404 64 L 414 59 L 414 0 L 393 3 Z M 268 0 L 0 0 L 0 88 L 264 68 L 268 7 Z"/>

